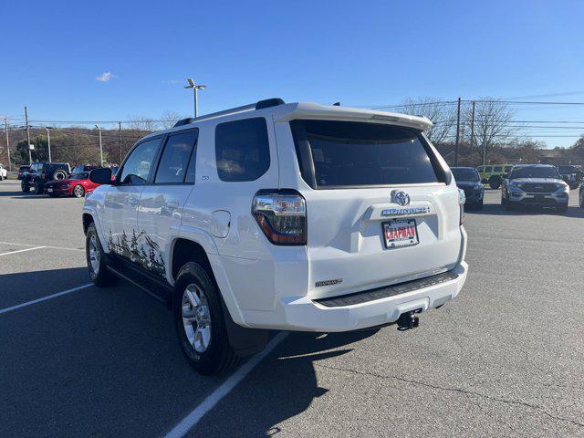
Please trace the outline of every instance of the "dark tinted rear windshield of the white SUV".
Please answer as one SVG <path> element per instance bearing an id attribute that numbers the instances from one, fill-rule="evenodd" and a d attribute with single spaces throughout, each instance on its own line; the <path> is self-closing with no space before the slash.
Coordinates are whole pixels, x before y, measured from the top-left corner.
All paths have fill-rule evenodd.
<path id="1" fill-rule="evenodd" d="M 416 130 L 340 120 L 290 125 L 302 176 L 314 188 L 441 182 L 433 152 Z"/>

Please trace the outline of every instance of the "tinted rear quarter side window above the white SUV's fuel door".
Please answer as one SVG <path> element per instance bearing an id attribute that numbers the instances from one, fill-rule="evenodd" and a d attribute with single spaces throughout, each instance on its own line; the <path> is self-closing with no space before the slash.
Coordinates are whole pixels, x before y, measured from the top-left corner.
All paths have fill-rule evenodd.
<path id="1" fill-rule="evenodd" d="M 223 181 L 254 181 L 270 167 L 266 119 L 228 121 L 215 129 L 217 173 Z"/>

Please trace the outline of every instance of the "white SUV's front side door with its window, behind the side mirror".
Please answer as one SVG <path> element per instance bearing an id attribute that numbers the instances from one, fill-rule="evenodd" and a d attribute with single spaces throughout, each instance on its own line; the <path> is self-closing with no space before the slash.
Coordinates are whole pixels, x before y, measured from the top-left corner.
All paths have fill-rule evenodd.
<path id="1" fill-rule="evenodd" d="M 104 229 L 108 252 L 135 261 L 139 248 L 132 235 L 138 233 L 138 206 L 162 137 L 142 141 L 130 151 L 116 185 L 105 194 Z"/>

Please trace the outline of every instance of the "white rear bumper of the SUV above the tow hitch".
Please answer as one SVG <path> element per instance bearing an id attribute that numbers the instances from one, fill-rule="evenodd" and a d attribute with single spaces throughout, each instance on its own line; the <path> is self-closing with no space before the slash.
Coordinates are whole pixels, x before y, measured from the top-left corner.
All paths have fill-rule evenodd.
<path id="1" fill-rule="evenodd" d="M 299 331 L 350 331 L 397 321 L 412 310 L 437 308 L 458 295 L 468 265 L 461 262 L 450 272 L 454 279 L 421 287 L 399 295 L 373 299 L 359 304 L 324 306 L 309 297 L 286 297 L 278 300 L 275 312 L 245 311 L 248 327 Z"/>

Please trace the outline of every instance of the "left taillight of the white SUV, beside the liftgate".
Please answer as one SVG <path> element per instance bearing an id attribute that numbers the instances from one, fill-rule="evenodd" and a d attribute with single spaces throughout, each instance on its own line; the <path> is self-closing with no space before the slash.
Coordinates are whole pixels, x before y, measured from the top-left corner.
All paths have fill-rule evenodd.
<path id="1" fill-rule="evenodd" d="M 260 191 L 252 214 L 274 245 L 307 245 L 307 203 L 294 190 Z"/>

